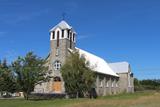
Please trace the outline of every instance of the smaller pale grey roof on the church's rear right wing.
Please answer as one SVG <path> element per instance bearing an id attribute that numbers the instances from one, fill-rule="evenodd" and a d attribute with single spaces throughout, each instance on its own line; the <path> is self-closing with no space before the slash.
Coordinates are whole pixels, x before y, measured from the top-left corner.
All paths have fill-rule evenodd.
<path id="1" fill-rule="evenodd" d="M 116 73 L 128 73 L 130 72 L 130 65 L 128 62 L 116 62 L 116 63 L 109 63 L 109 66 L 113 69 Z"/>

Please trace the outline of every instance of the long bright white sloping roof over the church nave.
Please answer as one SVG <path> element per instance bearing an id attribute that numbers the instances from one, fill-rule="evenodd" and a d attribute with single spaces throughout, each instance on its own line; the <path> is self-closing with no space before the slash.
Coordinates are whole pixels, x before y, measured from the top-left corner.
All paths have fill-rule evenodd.
<path id="1" fill-rule="evenodd" d="M 118 77 L 118 75 L 110 68 L 108 63 L 102 58 L 91 54 L 82 49 L 76 48 L 80 55 L 83 55 L 87 61 L 89 61 L 90 68 L 98 73 L 112 75 Z"/>

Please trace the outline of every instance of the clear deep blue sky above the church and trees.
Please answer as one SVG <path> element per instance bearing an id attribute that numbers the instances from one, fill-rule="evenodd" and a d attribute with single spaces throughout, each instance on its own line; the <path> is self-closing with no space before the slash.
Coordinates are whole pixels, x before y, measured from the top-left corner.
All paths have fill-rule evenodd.
<path id="1" fill-rule="evenodd" d="M 63 12 L 77 47 L 108 62 L 128 61 L 139 79 L 160 78 L 159 0 L 0 0 L 0 59 L 47 56 L 49 30 Z"/>

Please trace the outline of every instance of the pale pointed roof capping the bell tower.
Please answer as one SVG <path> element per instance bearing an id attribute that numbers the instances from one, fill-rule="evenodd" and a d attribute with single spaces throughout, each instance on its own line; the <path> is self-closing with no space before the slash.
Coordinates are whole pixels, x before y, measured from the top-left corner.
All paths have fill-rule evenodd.
<path id="1" fill-rule="evenodd" d="M 50 32 L 54 31 L 57 27 L 60 29 L 71 29 L 72 27 L 64 20 L 62 20 L 60 23 L 58 23 L 56 26 L 54 26 Z"/>

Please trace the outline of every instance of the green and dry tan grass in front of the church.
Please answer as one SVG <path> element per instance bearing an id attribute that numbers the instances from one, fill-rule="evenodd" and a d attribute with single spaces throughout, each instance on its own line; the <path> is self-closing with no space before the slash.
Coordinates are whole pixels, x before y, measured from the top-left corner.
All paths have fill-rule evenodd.
<path id="1" fill-rule="evenodd" d="M 139 92 L 97 99 L 0 100 L 0 107 L 160 107 L 160 92 Z"/>

